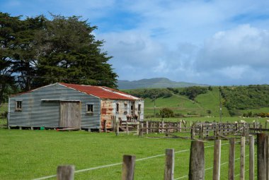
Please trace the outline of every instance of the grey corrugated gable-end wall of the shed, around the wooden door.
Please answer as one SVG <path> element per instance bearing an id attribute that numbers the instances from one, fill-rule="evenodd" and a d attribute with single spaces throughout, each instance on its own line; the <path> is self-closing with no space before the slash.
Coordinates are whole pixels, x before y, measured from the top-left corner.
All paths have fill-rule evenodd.
<path id="1" fill-rule="evenodd" d="M 100 99 L 57 83 L 10 97 L 8 126 L 58 127 L 59 103 L 67 100 L 81 102 L 81 128 L 100 128 Z M 21 111 L 16 101 L 22 102 Z M 93 104 L 93 113 L 86 113 L 86 104 Z"/>

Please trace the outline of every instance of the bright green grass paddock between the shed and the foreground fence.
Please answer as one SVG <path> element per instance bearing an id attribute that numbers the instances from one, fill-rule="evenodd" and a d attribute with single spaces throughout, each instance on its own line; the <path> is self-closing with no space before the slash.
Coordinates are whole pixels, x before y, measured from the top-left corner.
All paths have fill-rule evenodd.
<path id="1" fill-rule="evenodd" d="M 56 174 L 57 165 L 74 164 L 76 170 L 122 162 L 122 155 L 136 155 L 137 160 L 162 155 L 166 148 L 176 151 L 175 179 L 188 175 L 190 140 L 149 138 L 120 133 L 86 131 L 30 131 L 0 128 L 0 179 L 35 179 Z M 158 138 L 159 137 L 159 138 Z M 228 143 L 223 140 L 222 143 Z M 213 141 L 205 142 L 206 179 L 212 179 Z M 240 145 L 236 145 L 239 158 Z M 227 179 L 229 145 L 222 145 L 221 179 Z M 248 155 L 248 145 L 246 145 Z M 137 161 L 135 179 L 163 179 L 165 157 Z M 75 179 L 120 179 L 121 165 L 75 174 Z M 246 169 L 248 157 L 246 157 Z M 239 174 L 239 160 L 236 160 Z M 52 178 L 55 179 L 55 178 Z M 188 179 L 185 177 L 183 179 Z M 236 178 L 239 179 L 239 176 Z M 246 172 L 246 179 L 248 174 Z"/>

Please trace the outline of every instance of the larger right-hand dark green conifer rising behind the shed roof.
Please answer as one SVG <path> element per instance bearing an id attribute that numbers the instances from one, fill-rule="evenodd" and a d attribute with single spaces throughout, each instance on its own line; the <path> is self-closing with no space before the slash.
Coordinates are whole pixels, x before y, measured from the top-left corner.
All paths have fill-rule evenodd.
<path id="1" fill-rule="evenodd" d="M 106 52 L 101 52 L 103 41 L 96 40 L 86 20 L 78 16 L 52 16 L 38 35 L 37 83 L 55 82 L 116 87 Z"/>

